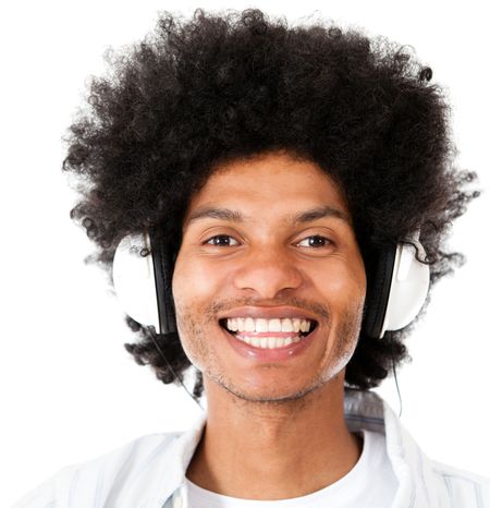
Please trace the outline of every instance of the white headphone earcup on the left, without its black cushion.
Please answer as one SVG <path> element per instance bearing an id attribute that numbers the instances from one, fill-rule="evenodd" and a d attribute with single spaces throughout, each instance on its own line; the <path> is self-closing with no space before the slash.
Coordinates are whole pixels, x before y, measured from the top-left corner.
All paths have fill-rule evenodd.
<path id="1" fill-rule="evenodd" d="M 142 256 L 142 250 L 146 250 L 148 255 Z M 114 254 L 112 281 L 123 311 L 140 325 L 158 329 L 157 290 L 147 234 L 121 240 Z"/>

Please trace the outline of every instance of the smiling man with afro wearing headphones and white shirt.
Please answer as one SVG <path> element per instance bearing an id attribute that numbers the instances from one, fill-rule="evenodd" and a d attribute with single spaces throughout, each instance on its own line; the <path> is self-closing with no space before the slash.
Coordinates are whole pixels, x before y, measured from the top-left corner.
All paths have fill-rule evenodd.
<path id="1" fill-rule="evenodd" d="M 489 480 L 430 460 L 369 391 L 406 358 L 428 267 L 431 286 L 451 271 L 443 234 L 477 195 L 430 69 L 257 10 L 167 14 L 113 64 L 71 129 L 72 217 L 114 269 L 142 336 L 127 350 L 164 383 L 192 365 L 207 410 L 17 507 L 490 506 Z M 154 303 L 126 283 L 126 241 Z"/>

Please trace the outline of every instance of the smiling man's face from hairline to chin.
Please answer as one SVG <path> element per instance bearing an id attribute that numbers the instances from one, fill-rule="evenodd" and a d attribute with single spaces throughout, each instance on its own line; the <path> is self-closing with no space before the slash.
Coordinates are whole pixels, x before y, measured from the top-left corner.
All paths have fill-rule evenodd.
<path id="1" fill-rule="evenodd" d="M 366 277 L 333 181 L 274 153 L 219 168 L 192 198 L 172 288 L 182 346 L 207 380 L 289 400 L 344 376 Z"/>

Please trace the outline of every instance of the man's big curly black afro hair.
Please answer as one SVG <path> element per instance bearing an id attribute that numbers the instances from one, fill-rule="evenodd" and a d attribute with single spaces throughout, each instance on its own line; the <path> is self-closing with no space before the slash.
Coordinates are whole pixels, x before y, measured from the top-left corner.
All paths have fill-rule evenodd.
<path id="1" fill-rule="evenodd" d="M 71 217 L 96 243 L 86 262 L 109 277 L 124 235 L 155 228 L 176 253 L 189 198 L 212 171 L 272 150 L 317 164 L 340 185 L 368 287 L 377 253 L 419 228 L 431 287 L 464 263 L 441 246 L 479 195 L 464 190 L 477 176 L 454 167 L 450 101 L 411 47 L 331 21 L 287 26 L 257 9 L 198 9 L 189 20 L 159 13 L 143 41 L 106 59 L 65 136 L 63 169 L 82 195 Z M 169 366 L 152 330 L 126 322 L 140 339 L 126 349 L 163 383 L 191 365 L 176 334 L 158 337 Z M 346 385 L 376 387 L 392 362 L 412 360 L 403 339 L 414 323 L 383 340 L 362 334 Z"/>

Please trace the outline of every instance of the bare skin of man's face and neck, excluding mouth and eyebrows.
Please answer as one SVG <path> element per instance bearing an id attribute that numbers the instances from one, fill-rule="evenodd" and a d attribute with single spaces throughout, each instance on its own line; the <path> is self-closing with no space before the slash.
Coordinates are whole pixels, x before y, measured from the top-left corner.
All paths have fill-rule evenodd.
<path id="1" fill-rule="evenodd" d="M 289 221 L 323 205 L 347 220 Z M 207 206 L 248 219 L 189 220 Z M 225 237 L 212 240 L 217 235 Z M 317 235 L 329 241 L 309 239 Z M 285 152 L 218 167 L 189 202 L 172 289 L 182 346 L 203 372 L 208 402 L 186 476 L 219 494 L 270 500 L 303 496 L 345 476 L 362 452 L 343 403 L 366 276 L 333 180 Z M 318 322 L 315 338 L 286 360 L 243 358 L 218 319 L 244 305 L 307 312 Z"/>

